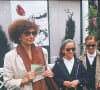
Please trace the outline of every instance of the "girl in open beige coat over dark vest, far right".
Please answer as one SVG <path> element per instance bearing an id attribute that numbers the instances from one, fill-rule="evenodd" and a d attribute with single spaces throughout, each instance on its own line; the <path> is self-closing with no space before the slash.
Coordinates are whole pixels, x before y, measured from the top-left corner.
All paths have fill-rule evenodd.
<path id="1" fill-rule="evenodd" d="M 80 56 L 80 60 L 89 75 L 88 90 L 97 90 L 100 88 L 100 52 L 97 50 L 95 36 L 88 35 L 85 39 L 85 45 L 86 51 Z"/>

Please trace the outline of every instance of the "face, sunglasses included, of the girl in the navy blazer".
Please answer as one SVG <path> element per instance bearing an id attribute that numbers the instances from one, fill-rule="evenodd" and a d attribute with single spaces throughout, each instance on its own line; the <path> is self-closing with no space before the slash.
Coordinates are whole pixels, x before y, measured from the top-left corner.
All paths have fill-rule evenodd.
<path id="1" fill-rule="evenodd" d="M 68 42 L 63 49 L 63 53 L 65 53 L 65 58 L 67 60 L 71 60 L 75 53 L 75 45 L 73 42 Z"/>

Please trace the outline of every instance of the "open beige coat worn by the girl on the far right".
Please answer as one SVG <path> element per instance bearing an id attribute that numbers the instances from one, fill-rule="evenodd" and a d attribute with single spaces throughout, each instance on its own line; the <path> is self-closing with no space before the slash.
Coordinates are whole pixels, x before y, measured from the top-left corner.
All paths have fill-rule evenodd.
<path id="1" fill-rule="evenodd" d="M 87 53 L 87 51 L 85 51 L 80 56 L 80 60 L 83 62 L 85 68 L 87 69 L 87 66 L 86 66 L 86 53 Z M 95 80 L 96 80 L 96 85 L 98 85 L 98 83 L 100 84 L 100 52 L 98 50 L 96 50 L 96 53 L 97 53 L 97 60 L 96 60 L 96 75 L 95 75 Z"/>

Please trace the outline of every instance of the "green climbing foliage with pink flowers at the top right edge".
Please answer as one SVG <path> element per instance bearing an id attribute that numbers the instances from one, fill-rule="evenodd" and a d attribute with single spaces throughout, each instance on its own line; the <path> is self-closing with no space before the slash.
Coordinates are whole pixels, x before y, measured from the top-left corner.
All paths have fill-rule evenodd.
<path id="1" fill-rule="evenodd" d="M 99 5 L 98 5 L 99 6 Z M 98 14 L 97 5 L 94 4 L 94 0 L 89 0 L 89 12 L 88 12 L 88 22 L 89 25 L 86 31 L 89 35 L 94 35 L 99 43 L 98 49 L 100 50 L 100 16 Z M 93 19 L 96 19 L 93 23 Z"/>

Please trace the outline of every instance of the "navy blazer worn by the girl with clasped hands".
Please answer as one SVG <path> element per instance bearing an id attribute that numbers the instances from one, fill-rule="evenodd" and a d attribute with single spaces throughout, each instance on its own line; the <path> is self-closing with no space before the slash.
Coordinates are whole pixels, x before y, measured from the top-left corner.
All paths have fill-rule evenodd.
<path id="1" fill-rule="evenodd" d="M 83 86 L 88 85 L 88 75 L 87 71 L 84 68 L 83 64 L 80 60 L 75 59 L 74 66 L 72 71 L 74 70 L 74 79 L 79 80 L 79 85 L 77 86 L 77 90 L 82 90 Z M 55 62 L 55 65 L 52 69 L 54 73 L 54 80 L 61 90 L 66 90 L 63 85 L 64 81 L 68 81 L 69 73 L 67 68 L 65 67 L 63 59 L 58 58 Z"/>

